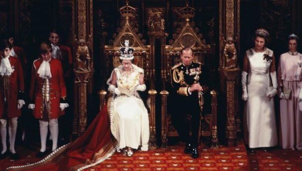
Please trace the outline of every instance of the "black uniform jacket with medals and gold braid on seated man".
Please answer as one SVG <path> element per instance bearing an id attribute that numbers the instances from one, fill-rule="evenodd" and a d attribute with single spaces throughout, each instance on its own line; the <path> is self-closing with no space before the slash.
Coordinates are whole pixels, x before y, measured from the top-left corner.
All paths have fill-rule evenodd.
<path id="1" fill-rule="evenodd" d="M 179 63 L 171 69 L 171 95 L 175 97 L 175 99 L 173 98 L 174 104 L 177 106 L 181 105 L 183 106 L 182 108 L 199 106 L 198 92 L 194 91 L 190 94 L 189 87 L 199 82 L 202 86 L 203 93 L 207 92 L 208 88 L 205 86 L 206 74 L 204 71 L 202 64 L 193 62 L 188 67 L 183 65 L 183 63 Z M 199 74 L 197 74 L 198 72 Z M 180 106 L 177 108 L 179 109 L 179 107 Z M 177 111 L 180 112 L 179 110 Z"/>

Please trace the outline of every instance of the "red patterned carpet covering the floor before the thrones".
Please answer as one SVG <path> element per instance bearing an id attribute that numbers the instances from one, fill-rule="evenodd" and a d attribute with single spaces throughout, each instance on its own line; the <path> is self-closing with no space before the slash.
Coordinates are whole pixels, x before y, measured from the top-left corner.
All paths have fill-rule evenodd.
<path id="1" fill-rule="evenodd" d="M 192 159 L 183 153 L 184 146 L 172 146 L 168 149 L 136 151 L 132 157 L 115 153 L 103 163 L 86 171 L 154 171 L 154 170 L 302 170 L 302 152 L 275 149 L 268 152 L 248 153 L 243 143 L 237 147 L 203 149 L 200 158 Z M 0 170 L 8 166 L 36 162 L 38 150 L 17 148 L 21 159 L 0 160 Z"/>

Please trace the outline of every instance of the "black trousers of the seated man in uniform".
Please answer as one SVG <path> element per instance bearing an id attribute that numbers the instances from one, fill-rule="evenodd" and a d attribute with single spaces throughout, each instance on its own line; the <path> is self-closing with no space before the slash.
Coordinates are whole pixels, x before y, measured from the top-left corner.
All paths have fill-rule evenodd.
<path id="1" fill-rule="evenodd" d="M 189 102 L 189 103 L 188 103 Z M 172 124 L 178 132 L 180 140 L 183 142 L 190 142 L 192 147 L 198 146 L 199 129 L 200 129 L 200 106 L 197 103 L 190 103 L 190 101 L 183 104 L 176 105 L 174 112 L 171 115 Z M 190 123 L 188 115 L 191 115 L 191 131 L 190 138 Z"/>

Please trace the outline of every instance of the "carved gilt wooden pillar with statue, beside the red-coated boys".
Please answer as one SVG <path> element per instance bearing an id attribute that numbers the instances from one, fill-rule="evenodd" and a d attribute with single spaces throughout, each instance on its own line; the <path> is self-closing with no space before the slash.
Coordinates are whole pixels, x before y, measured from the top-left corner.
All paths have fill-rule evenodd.
<path id="1" fill-rule="evenodd" d="M 73 134 L 81 135 L 87 126 L 87 95 L 93 90 L 93 38 L 90 36 L 93 33 L 93 1 L 79 0 L 75 4 L 77 31 L 74 49 L 77 58 L 74 60 L 74 73 L 75 93 L 78 96 L 75 97 Z"/>

